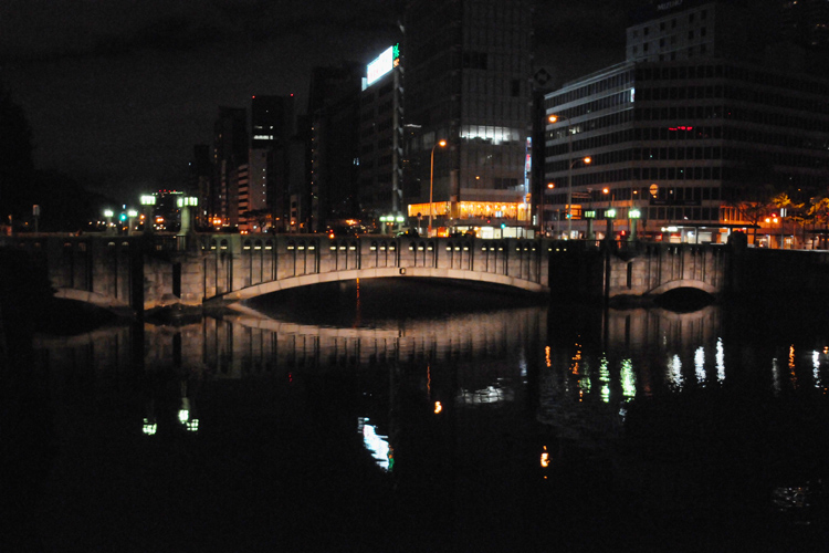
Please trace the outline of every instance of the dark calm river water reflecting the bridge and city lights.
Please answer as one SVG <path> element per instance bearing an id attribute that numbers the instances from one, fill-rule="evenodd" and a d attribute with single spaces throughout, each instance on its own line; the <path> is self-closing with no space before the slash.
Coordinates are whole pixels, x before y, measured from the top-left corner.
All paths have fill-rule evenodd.
<path id="1" fill-rule="evenodd" d="M 36 334 L 20 551 L 805 551 L 819 306 L 377 280 Z"/>

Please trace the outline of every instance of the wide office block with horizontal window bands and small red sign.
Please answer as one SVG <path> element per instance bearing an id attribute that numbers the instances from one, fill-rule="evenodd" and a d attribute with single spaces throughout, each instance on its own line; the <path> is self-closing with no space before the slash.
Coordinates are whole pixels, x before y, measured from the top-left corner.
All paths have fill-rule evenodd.
<path id="1" fill-rule="evenodd" d="M 545 95 L 544 207 L 555 236 L 630 232 L 638 216 L 640 232 L 717 242 L 746 225 L 737 195 L 768 184 L 808 199 L 829 178 L 829 81 L 721 50 L 714 18 L 724 12 L 712 2 L 665 6 L 628 29 L 626 63 Z M 670 29 L 694 42 L 672 43 Z"/>

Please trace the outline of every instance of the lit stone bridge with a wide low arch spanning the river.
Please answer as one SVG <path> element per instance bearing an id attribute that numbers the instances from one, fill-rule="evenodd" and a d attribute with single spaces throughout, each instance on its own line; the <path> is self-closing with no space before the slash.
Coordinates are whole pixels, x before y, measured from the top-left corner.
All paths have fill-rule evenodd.
<path id="1" fill-rule="evenodd" d="M 747 286 L 820 291 L 829 282 L 829 252 L 725 244 L 204 233 L 20 234 L 0 238 L 0 247 L 29 251 L 57 298 L 132 312 L 392 276 L 606 301 L 678 288 L 713 295 Z"/>

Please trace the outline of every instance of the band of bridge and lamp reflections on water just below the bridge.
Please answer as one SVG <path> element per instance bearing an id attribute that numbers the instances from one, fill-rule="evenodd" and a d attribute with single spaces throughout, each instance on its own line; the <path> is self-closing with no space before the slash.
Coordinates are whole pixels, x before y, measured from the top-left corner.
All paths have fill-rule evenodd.
<path id="1" fill-rule="evenodd" d="M 436 413 L 533 401 L 538 420 L 574 439 L 615 435 L 625 404 L 636 397 L 742 380 L 748 364 L 752 382 L 775 394 L 826 387 L 829 344 L 732 342 L 726 347 L 722 327 L 715 306 L 686 314 L 661 309 L 548 313 L 539 306 L 348 328 L 279 321 L 239 307 L 190 324 L 41 336 L 35 347 L 53 374 L 83 374 L 103 387 L 128 386 L 136 374 L 175 375 L 182 409 L 183 399 L 198 403 L 187 387 L 190 380 L 302 379 L 346 371 L 367 389 L 378 387 L 372 379 L 381 386 L 405 382 Z M 735 374 L 732 366 L 738 367 Z M 189 419 L 181 422 L 198 430 Z"/>

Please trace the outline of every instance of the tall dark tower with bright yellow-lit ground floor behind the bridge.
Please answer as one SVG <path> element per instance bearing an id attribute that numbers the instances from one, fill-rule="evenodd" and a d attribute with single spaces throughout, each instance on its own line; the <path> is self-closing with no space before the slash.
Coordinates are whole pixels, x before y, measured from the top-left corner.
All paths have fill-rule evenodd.
<path id="1" fill-rule="evenodd" d="M 410 219 L 426 217 L 431 199 L 438 232 L 486 227 L 516 236 L 532 225 L 532 7 L 528 0 L 409 2 L 406 124 L 417 129 L 406 144 Z"/>

